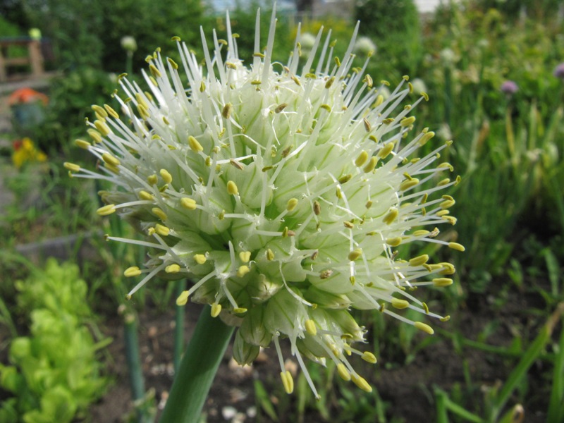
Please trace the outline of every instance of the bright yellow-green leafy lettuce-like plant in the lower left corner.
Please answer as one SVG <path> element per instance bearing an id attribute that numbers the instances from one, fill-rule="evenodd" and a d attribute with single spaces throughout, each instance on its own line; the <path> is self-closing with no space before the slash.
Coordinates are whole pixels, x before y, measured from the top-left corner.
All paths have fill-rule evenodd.
<path id="1" fill-rule="evenodd" d="M 2 422 L 71 422 L 103 393 L 97 351 L 85 317 L 86 283 L 74 264 L 54 259 L 44 272 L 17 284 L 18 305 L 29 312 L 29 336 L 11 342 L 11 365 L 0 364 L 0 386 L 13 393 L 0 407 Z"/>

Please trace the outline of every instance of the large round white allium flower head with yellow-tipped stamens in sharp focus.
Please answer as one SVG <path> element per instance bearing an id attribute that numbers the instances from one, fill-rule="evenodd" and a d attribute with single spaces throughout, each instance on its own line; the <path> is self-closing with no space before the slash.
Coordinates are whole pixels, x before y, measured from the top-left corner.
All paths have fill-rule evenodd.
<path id="1" fill-rule="evenodd" d="M 229 20 L 227 19 L 227 23 Z M 99 170 L 66 164 L 75 176 L 100 178 L 102 216 L 118 213 L 146 240 L 108 240 L 148 247 L 135 291 L 159 274 L 194 282 L 177 300 L 212 305 L 212 315 L 238 326 L 234 355 L 250 363 L 259 347 L 274 343 L 286 391 L 280 340 L 303 357 L 336 363 L 343 379 L 372 388 L 348 356 L 376 362 L 355 348 L 365 330 L 350 309 L 374 309 L 427 333 L 431 326 L 394 310 L 411 308 L 422 319 L 445 319 L 412 295 L 417 286 L 448 286 L 450 263 L 427 255 L 398 257 L 396 247 L 437 238 L 441 223 L 455 223 L 454 204 L 441 193 L 458 182 L 440 152 L 417 150 L 434 133 L 414 133 L 407 78 L 387 99 L 364 68 L 353 68 L 355 30 L 343 59 L 333 59 L 329 36 L 317 35 L 300 63 L 298 43 L 286 65 L 273 62 L 273 13 L 266 49 L 250 66 L 226 41 L 204 35 L 205 70 L 179 39 L 181 62 L 157 50 L 147 58 L 148 90 L 121 78 L 121 114 L 93 106 L 92 142 L 78 140 L 99 159 Z M 183 82 L 188 80 L 188 85 Z M 388 82 L 383 82 L 386 87 Z"/>

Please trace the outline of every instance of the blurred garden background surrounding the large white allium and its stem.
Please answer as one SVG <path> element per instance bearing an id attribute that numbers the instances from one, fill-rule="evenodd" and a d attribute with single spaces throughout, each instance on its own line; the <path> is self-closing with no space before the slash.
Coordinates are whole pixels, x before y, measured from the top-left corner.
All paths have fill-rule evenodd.
<path id="1" fill-rule="evenodd" d="M 176 309 L 183 288 L 166 281 L 125 302 L 123 269 L 144 252 L 105 243 L 134 235 L 97 216 L 104 186 L 63 162 L 95 166 L 74 146 L 91 105 L 116 106 L 121 73 L 144 83 L 156 47 L 177 59 L 172 36 L 203 58 L 200 25 L 221 37 L 228 9 L 248 63 L 257 6 L 266 27 L 270 1 L 0 1 L 1 422 L 158 415 L 181 353 L 173 340 L 190 336 L 200 308 Z M 324 25 L 342 56 L 357 20 L 357 66 L 372 54 L 367 73 L 392 89 L 409 75 L 410 101 L 429 94 L 416 130 L 454 140 L 443 156 L 462 176 L 449 192 L 458 223 L 441 237 L 466 252 L 400 251 L 454 260 L 453 286 L 417 292 L 452 318 L 423 336 L 359 313 L 379 357 L 362 373 L 372 393 L 328 364 L 310 368 L 322 400 L 302 376 L 286 396 L 271 351 L 245 369 L 226 356 L 200 421 L 564 422 L 564 2 L 278 1 L 275 59 L 288 60 L 298 23 L 303 54 Z"/>

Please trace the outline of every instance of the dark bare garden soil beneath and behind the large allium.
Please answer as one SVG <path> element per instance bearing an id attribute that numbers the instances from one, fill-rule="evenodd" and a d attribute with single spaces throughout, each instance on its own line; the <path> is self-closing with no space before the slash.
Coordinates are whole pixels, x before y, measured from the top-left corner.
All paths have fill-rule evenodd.
<path id="1" fill-rule="evenodd" d="M 485 391 L 501 386 L 502 381 L 507 379 L 512 370 L 510 363 L 514 365 L 516 360 L 508 360 L 502 355 L 494 355 L 474 348 L 461 347 L 450 340 L 448 331 L 460 328 L 460 335 L 474 340 L 494 322 L 496 329 L 493 336 L 487 339 L 489 345 L 508 347 L 515 336 L 522 336 L 524 339 L 534 338 L 544 322 L 532 317 L 532 314 L 527 314 L 525 310 L 544 307 L 544 300 L 540 295 L 531 293 L 522 295 L 515 292 L 507 295 L 508 300 L 503 307 L 493 304 L 494 297 L 491 295 L 470 295 L 465 308 L 452 311 L 455 315 L 453 321 L 434 325 L 438 329 L 434 335 L 437 338 L 436 342 L 419 350 L 415 359 L 410 360 L 409 364 L 405 364 L 405 357 L 401 354 L 398 356 L 397 348 L 393 348 L 393 345 L 390 350 L 394 351 L 396 357 L 388 356 L 386 344 L 380 343 L 382 351 L 379 364 L 376 364 L 376 367 L 364 368 L 362 374 L 387 405 L 388 417 L 396 417 L 394 420 L 396 422 L 433 422 L 436 414 L 433 390 L 436 387 L 448 392 L 474 389 L 473 396 L 469 396 L 465 391 L 467 393 L 465 398 L 472 398 L 472 403 L 464 405 L 468 410 L 479 414 L 484 407 Z M 190 338 L 201 309 L 202 306 L 195 304 L 189 304 L 186 308 L 186 339 Z M 172 329 L 172 312 L 163 313 L 147 309 L 140 314 L 140 345 L 146 377 L 145 388 L 154 390 L 159 412 L 166 402 L 166 395 L 173 381 Z M 90 410 L 91 421 L 118 423 L 132 415 L 123 333 L 119 318 L 114 317 L 106 321 L 102 330 L 114 339 L 109 346 L 109 355 L 113 361 L 107 371 L 115 379 L 104 398 Z M 422 341 L 424 338 L 424 334 L 417 334 L 415 345 L 417 341 Z M 288 351 L 286 356 L 290 356 Z M 231 347 L 228 348 L 209 394 L 209 400 L 204 407 L 207 422 L 271 422 L 264 412 L 257 410 L 254 381 L 255 379 L 262 381 L 275 404 L 283 400 L 278 396 L 285 394 L 279 387 L 278 360 L 274 348 L 264 350 L 259 358 L 260 360 L 257 360 L 252 367 L 239 367 L 231 359 Z M 363 362 L 356 360 L 354 363 L 362 367 Z M 294 367 L 297 367 L 297 364 Z M 527 396 L 529 399 L 525 405 L 526 422 L 545 422 L 543 410 L 546 410 L 546 398 L 543 398 L 542 393 L 546 392 L 546 384 L 542 380 L 543 372 L 546 372 L 546 369 L 542 368 L 541 362 L 534 364 L 529 371 Z M 471 385 L 466 385 L 465 377 L 470 377 Z M 355 391 L 357 389 L 355 386 L 350 385 L 349 388 L 350 391 L 358 392 L 357 395 L 361 396 L 362 392 Z M 333 400 L 339 396 L 338 392 L 331 394 Z M 295 400 L 295 395 L 291 400 Z M 337 415 L 340 407 L 336 401 L 333 402 L 335 403 L 330 404 L 331 411 Z M 513 406 L 517 402 L 517 398 L 511 398 L 508 406 Z M 259 417 L 255 417 L 257 414 Z M 279 415 L 279 421 L 290 422 L 290 418 Z M 315 410 L 310 410 L 306 412 L 304 421 L 327 420 Z"/>

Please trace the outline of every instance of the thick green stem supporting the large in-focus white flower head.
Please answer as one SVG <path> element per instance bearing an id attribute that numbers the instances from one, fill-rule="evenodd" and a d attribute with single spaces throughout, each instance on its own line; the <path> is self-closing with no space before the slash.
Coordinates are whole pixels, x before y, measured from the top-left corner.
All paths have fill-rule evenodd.
<path id="1" fill-rule="evenodd" d="M 205 306 L 174 378 L 161 423 L 197 422 L 232 334 L 233 327 L 213 318 L 211 307 Z"/>

